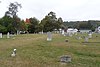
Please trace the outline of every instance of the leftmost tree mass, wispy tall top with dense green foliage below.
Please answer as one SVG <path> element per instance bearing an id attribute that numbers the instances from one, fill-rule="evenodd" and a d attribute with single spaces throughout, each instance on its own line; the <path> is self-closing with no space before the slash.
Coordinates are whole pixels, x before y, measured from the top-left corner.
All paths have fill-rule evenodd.
<path id="1" fill-rule="evenodd" d="M 21 28 L 21 20 L 17 16 L 18 7 L 21 8 L 21 4 L 17 2 L 10 3 L 8 7 L 8 11 L 5 12 L 5 15 L 0 19 L 0 32 L 16 32 L 16 30 L 20 30 Z"/>

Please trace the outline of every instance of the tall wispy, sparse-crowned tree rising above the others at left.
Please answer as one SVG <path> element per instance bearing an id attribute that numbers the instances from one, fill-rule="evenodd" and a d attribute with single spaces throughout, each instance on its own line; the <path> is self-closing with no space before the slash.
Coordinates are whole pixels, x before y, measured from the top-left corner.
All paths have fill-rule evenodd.
<path id="1" fill-rule="evenodd" d="M 19 29 L 19 18 L 17 16 L 17 12 L 18 12 L 18 7 L 22 7 L 21 4 L 14 2 L 14 3 L 10 3 L 9 7 L 8 7 L 8 11 L 5 12 L 5 16 L 9 16 L 13 19 L 12 21 L 12 25 L 14 26 L 15 30 Z"/>

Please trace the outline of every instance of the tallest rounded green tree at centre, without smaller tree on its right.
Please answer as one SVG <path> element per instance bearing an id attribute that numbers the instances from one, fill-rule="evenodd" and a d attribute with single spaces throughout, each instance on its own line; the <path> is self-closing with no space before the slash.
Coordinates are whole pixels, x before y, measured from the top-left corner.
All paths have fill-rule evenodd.
<path id="1" fill-rule="evenodd" d="M 43 18 L 43 20 L 41 20 L 41 26 L 43 28 L 44 32 L 48 32 L 48 31 L 53 31 L 56 27 L 56 22 L 57 22 L 57 18 L 56 18 L 56 14 L 54 12 L 49 12 L 48 15 L 45 16 L 45 18 Z"/>

